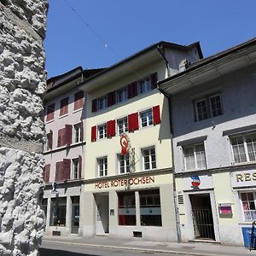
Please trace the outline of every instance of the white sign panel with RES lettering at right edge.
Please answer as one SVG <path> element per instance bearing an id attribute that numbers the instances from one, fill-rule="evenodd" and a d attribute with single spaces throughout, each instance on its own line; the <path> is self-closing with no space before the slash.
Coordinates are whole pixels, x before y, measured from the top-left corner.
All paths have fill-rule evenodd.
<path id="1" fill-rule="evenodd" d="M 256 171 L 232 172 L 232 184 L 234 187 L 255 186 Z"/>

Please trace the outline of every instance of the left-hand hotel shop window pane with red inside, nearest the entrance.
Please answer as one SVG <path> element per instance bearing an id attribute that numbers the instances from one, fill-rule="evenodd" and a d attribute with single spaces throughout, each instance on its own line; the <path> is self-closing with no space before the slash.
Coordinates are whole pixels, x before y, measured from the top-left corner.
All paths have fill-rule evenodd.
<path id="1" fill-rule="evenodd" d="M 119 225 L 136 225 L 135 192 L 119 193 Z"/>

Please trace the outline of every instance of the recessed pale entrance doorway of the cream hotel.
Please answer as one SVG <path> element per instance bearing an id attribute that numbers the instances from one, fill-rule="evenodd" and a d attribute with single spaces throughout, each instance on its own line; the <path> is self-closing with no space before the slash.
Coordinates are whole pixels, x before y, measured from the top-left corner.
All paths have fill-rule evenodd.
<path id="1" fill-rule="evenodd" d="M 109 201 L 108 193 L 96 194 L 96 235 L 108 234 Z"/>

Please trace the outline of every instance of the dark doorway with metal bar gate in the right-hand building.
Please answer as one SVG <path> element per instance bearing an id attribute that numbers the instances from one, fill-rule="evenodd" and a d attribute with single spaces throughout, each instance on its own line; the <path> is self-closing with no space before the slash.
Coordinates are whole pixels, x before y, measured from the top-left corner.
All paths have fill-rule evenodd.
<path id="1" fill-rule="evenodd" d="M 192 208 L 195 239 L 215 240 L 209 194 L 189 195 Z"/>

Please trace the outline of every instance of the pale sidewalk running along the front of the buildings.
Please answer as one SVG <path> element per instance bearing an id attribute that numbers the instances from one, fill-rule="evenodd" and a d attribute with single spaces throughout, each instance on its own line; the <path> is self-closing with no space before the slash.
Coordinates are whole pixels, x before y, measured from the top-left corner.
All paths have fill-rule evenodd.
<path id="1" fill-rule="evenodd" d="M 134 238 L 131 240 L 113 239 L 108 236 L 93 236 L 93 237 L 78 237 L 78 236 L 44 236 L 44 242 L 70 244 L 86 247 L 108 247 L 119 248 L 125 250 L 137 250 L 148 253 L 173 253 L 173 254 L 187 254 L 187 255 L 256 255 L 255 251 L 249 251 L 246 247 L 230 247 L 220 244 L 189 242 L 165 242 L 165 241 L 144 241 L 141 238 Z"/>

